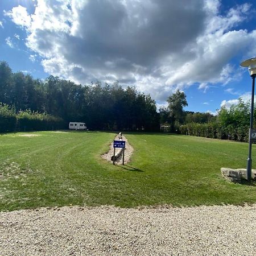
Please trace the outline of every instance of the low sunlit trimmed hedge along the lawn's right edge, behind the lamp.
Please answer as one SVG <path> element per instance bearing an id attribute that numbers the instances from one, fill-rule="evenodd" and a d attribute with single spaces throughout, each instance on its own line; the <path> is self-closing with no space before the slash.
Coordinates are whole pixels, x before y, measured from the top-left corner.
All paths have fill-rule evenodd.
<path id="1" fill-rule="evenodd" d="M 218 123 L 187 123 L 180 126 L 180 133 L 214 139 L 232 139 L 233 141 L 248 141 L 249 126 L 223 127 Z"/>

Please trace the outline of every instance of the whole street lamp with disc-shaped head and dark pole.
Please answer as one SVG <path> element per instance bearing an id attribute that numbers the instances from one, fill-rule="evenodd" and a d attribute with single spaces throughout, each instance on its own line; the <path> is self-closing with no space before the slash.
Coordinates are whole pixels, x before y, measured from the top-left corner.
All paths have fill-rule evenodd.
<path id="1" fill-rule="evenodd" d="M 249 155 L 247 159 L 246 166 L 246 179 L 251 181 L 251 144 L 252 144 L 252 135 L 255 134 L 253 131 L 253 112 L 254 112 L 254 87 L 255 87 L 255 77 L 256 77 L 256 57 L 251 58 L 249 60 L 245 60 L 240 64 L 242 67 L 247 67 L 250 73 L 251 79 L 253 79 L 253 83 L 251 86 L 251 118 L 250 118 L 250 130 L 249 130 Z"/>

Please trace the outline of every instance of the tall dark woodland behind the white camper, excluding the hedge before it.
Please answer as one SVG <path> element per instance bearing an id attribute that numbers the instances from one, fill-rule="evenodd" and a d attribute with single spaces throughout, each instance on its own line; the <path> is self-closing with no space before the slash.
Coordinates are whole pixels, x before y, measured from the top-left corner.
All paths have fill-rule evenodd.
<path id="1" fill-rule="evenodd" d="M 0 102 L 16 114 L 47 113 L 61 118 L 63 128 L 77 121 L 89 129 L 159 130 L 155 100 L 135 87 L 123 89 L 118 82 L 82 86 L 54 76 L 33 79 L 14 73 L 5 61 L 0 62 Z"/>

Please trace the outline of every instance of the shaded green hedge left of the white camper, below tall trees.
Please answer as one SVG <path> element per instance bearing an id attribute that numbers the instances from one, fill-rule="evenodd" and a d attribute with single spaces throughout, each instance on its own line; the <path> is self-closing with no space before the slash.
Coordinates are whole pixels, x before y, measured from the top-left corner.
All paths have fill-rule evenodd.
<path id="1" fill-rule="evenodd" d="M 15 113 L 9 105 L 0 104 L 0 133 L 10 131 L 43 131 L 64 129 L 62 118 L 31 110 Z"/>

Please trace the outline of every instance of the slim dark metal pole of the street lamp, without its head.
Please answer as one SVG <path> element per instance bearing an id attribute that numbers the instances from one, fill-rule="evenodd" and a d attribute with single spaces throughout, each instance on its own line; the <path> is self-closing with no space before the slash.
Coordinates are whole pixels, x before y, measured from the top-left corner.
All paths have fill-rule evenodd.
<path id="1" fill-rule="evenodd" d="M 254 112 L 254 87 L 255 87 L 255 76 L 251 75 L 253 79 L 253 83 L 251 86 L 251 117 L 250 117 L 250 131 L 249 131 L 249 155 L 247 159 L 247 166 L 246 166 L 246 179 L 250 182 L 251 181 L 251 130 L 253 129 L 253 112 Z"/>

